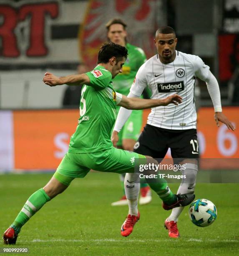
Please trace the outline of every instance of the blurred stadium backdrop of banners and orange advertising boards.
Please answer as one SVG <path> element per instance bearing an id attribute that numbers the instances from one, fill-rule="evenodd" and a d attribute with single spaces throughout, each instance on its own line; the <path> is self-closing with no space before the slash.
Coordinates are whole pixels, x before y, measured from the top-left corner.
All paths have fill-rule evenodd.
<path id="1" fill-rule="evenodd" d="M 0 0 L 1 172 L 58 166 L 75 130 L 80 91 L 47 87 L 43 74 L 93 68 L 106 41 L 105 24 L 115 17 L 125 20 L 128 41 L 143 48 L 148 58 L 156 54 L 158 26 L 175 28 L 177 49 L 199 55 L 211 67 L 224 112 L 239 126 L 238 1 Z M 199 80 L 196 102 L 201 157 L 238 158 L 238 129 L 216 128 L 206 84 Z"/>

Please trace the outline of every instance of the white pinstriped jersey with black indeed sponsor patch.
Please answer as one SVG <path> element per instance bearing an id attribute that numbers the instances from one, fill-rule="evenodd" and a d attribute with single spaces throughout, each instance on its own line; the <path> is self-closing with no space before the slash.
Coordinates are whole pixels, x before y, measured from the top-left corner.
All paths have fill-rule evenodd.
<path id="1" fill-rule="evenodd" d="M 151 99 L 163 99 L 177 93 L 183 102 L 178 106 L 152 108 L 147 123 L 172 130 L 196 129 L 195 77 L 205 81 L 208 75 L 209 66 L 199 56 L 176 51 L 174 61 L 163 64 L 157 54 L 140 67 L 130 91 L 140 96 L 148 85 Z"/>

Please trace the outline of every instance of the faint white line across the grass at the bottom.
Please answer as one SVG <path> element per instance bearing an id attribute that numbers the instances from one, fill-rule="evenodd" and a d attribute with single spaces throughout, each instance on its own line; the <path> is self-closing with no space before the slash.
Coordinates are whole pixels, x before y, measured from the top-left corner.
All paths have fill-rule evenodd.
<path id="1" fill-rule="evenodd" d="M 239 240 L 233 240 L 233 239 L 226 239 L 226 240 L 217 240 L 217 239 L 196 239 L 196 238 L 189 238 L 189 239 L 179 239 L 177 241 L 173 242 L 232 242 L 232 243 L 238 243 Z M 26 242 L 33 242 L 33 243 L 48 243 L 48 242 L 114 242 L 114 243 L 132 243 L 132 242 L 137 242 L 137 243 L 146 243 L 146 242 L 171 242 L 170 240 L 167 239 L 149 239 L 149 240 L 138 240 L 138 239 L 127 239 L 127 240 L 119 240 L 119 239 L 111 239 L 111 238 L 106 238 L 106 239 L 52 239 L 52 240 L 42 240 L 42 239 L 34 239 L 32 241 L 26 241 Z"/>

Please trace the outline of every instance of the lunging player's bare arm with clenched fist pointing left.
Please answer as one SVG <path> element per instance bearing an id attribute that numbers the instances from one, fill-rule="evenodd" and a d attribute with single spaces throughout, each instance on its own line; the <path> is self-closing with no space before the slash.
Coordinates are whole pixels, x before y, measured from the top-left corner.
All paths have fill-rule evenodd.
<path id="1" fill-rule="evenodd" d="M 66 77 L 57 77 L 52 73 L 46 72 L 43 77 L 43 82 L 50 86 L 61 84 L 81 85 L 89 84 L 90 79 L 86 74 L 72 74 Z"/>

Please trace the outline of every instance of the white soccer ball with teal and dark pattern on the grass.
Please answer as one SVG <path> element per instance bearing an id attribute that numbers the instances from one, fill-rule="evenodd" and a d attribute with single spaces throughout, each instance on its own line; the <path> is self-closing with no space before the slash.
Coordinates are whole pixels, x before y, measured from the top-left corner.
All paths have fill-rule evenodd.
<path id="1" fill-rule="evenodd" d="M 206 199 L 198 199 L 189 207 L 189 218 L 198 227 L 207 227 L 216 220 L 216 206 Z"/>

